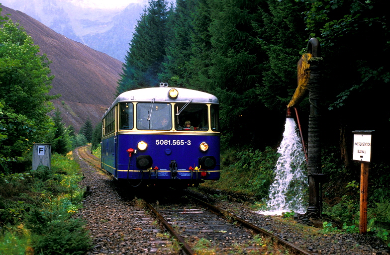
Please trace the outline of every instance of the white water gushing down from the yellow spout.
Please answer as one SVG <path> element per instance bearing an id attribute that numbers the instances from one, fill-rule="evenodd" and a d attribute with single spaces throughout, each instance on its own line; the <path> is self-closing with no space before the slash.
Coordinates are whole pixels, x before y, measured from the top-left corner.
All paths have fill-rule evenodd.
<path id="1" fill-rule="evenodd" d="M 260 214 L 276 214 L 294 211 L 305 212 L 305 156 L 293 118 L 286 118 L 283 140 L 278 148 L 280 157 L 275 167 L 275 180 L 270 186 L 268 211 Z"/>

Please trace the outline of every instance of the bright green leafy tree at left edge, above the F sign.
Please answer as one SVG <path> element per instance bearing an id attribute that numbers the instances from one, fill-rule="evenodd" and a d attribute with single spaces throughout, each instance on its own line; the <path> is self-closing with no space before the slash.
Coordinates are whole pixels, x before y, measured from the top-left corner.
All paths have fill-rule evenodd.
<path id="1" fill-rule="evenodd" d="M 52 135 L 48 59 L 32 38 L 11 20 L 0 27 L 0 171 L 24 160 L 31 141 Z"/>

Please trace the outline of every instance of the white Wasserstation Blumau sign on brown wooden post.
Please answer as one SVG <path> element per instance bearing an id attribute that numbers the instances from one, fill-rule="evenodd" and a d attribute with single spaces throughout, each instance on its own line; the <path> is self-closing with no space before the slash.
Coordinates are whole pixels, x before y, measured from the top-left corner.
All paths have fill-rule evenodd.
<path id="1" fill-rule="evenodd" d="M 353 143 L 353 160 L 361 162 L 360 166 L 360 221 L 359 233 L 367 233 L 367 198 L 368 169 L 371 162 L 371 133 L 374 130 L 355 130 Z"/>

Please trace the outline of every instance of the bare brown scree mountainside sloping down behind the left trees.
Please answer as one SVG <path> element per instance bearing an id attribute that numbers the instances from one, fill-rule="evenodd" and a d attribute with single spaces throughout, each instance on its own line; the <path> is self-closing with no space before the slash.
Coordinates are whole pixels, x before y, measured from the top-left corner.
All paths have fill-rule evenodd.
<path id="1" fill-rule="evenodd" d="M 95 126 L 115 99 L 122 62 L 53 31 L 21 11 L 0 7 L 1 15 L 10 14 L 52 61 L 55 78 L 50 94 L 62 95 L 53 103 L 62 112 L 63 122 L 76 132 L 88 117 Z"/>

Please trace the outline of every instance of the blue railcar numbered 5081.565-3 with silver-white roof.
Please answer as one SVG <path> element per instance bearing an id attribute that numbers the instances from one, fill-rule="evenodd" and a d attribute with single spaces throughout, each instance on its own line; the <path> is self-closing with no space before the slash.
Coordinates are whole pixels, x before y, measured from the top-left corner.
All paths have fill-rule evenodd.
<path id="1" fill-rule="evenodd" d="M 218 105 L 167 84 L 123 92 L 102 118 L 101 168 L 133 186 L 219 179 Z"/>

